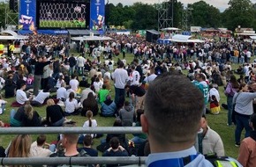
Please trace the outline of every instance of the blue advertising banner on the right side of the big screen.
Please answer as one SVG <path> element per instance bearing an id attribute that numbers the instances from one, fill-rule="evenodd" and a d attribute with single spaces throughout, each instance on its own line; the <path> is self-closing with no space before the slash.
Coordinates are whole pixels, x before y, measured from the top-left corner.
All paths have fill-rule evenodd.
<path id="1" fill-rule="evenodd" d="M 105 0 L 91 0 L 90 29 L 103 30 L 105 25 Z"/>

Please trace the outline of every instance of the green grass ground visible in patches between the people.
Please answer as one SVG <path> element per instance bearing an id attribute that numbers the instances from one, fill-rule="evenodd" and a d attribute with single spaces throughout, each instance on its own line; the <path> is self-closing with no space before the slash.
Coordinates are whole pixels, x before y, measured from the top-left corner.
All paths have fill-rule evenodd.
<path id="1" fill-rule="evenodd" d="M 121 57 L 122 55 L 120 54 L 119 57 Z M 127 54 L 126 55 L 126 61 L 127 62 L 132 62 L 133 59 L 133 55 L 132 54 Z M 117 58 L 114 58 L 115 62 L 117 62 Z M 103 60 L 102 60 L 103 61 Z M 237 68 L 237 65 L 232 66 L 233 69 Z M 184 73 L 187 73 L 186 71 L 184 71 Z M 223 87 L 219 87 L 219 92 L 221 95 L 221 102 L 222 103 L 226 103 L 226 97 L 223 94 Z M 114 89 L 112 87 L 112 90 L 110 91 L 111 96 L 114 97 Z M 4 122 L 9 122 L 9 114 L 11 111 L 11 102 L 13 102 L 15 100 L 15 98 L 9 98 L 7 99 L 8 104 L 6 105 L 6 111 L 4 112 L 3 115 L 0 115 L 0 120 L 4 120 Z M 46 116 L 46 112 L 45 112 L 45 108 L 46 106 L 43 107 L 34 107 L 34 110 L 37 111 L 41 117 L 45 117 Z M 18 108 L 16 108 L 18 109 Z M 83 123 L 87 120 L 86 117 L 81 117 L 81 116 L 70 116 L 68 117 L 68 119 L 72 119 L 74 121 L 77 122 L 77 126 L 81 127 L 83 126 Z M 101 116 L 97 115 L 94 117 L 95 120 L 97 120 L 98 123 L 98 127 L 112 127 L 113 125 L 113 121 L 115 118 L 102 118 Z M 238 154 L 238 149 L 235 147 L 235 137 L 234 137 L 234 132 L 235 132 L 235 127 L 228 127 L 227 124 L 227 110 L 224 110 L 222 108 L 222 112 L 218 115 L 211 115 L 211 114 L 207 114 L 207 121 L 208 121 L 208 125 L 214 129 L 218 134 L 221 135 L 222 137 L 222 142 L 224 143 L 224 148 L 225 148 L 225 153 L 227 156 L 232 156 L 237 158 L 237 154 Z M 9 142 L 11 141 L 11 139 L 13 138 L 14 135 L 8 135 L 8 134 L 1 134 L 0 135 L 0 145 L 7 147 Z M 128 138 L 131 139 L 132 134 L 128 134 L 127 135 Z M 36 135 L 33 135 L 33 138 L 35 139 Z M 106 134 L 104 134 L 103 138 L 106 137 Z M 242 139 L 244 137 L 244 134 L 242 134 Z M 48 134 L 48 141 L 47 142 L 51 142 L 51 141 L 55 141 L 56 140 L 56 134 Z M 93 147 L 95 148 L 97 145 L 99 145 L 100 143 L 100 139 L 94 139 L 94 145 Z"/>

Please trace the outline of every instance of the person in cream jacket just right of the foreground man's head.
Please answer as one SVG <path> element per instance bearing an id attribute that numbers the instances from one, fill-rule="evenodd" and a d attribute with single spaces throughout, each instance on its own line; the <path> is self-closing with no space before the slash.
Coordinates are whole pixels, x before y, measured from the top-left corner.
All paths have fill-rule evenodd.
<path id="1" fill-rule="evenodd" d="M 203 115 L 201 118 L 202 132 L 202 153 L 204 155 L 216 154 L 216 156 L 225 156 L 222 138 L 207 124 L 207 117 Z"/>

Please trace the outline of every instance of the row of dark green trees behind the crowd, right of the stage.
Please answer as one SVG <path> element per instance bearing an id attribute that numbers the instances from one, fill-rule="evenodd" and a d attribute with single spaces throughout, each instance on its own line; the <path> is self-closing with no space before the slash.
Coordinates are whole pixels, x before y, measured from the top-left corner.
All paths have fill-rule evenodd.
<path id="1" fill-rule="evenodd" d="M 188 25 L 202 27 L 226 27 L 235 30 L 237 25 L 256 29 L 256 4 L 250 0 L 230 0 L 230 7 L 221 12 L 215 6 L 200 1 L 194 4 L 184 4 L 177 0 L 169 0 L 168 16 L 173 13 L 173 26 L 182 28 L 184 10 L 189 9 Z M 173 8 L 172 4 L 173 3 Z M 106 5 L 106 24 L 124 25 L 128 29 L 157 29 L 158 9 L 162 4 L 135 3 L 131 6 L 121 3 Z M 173 12 L 172 12 L 173 9 Z"/>

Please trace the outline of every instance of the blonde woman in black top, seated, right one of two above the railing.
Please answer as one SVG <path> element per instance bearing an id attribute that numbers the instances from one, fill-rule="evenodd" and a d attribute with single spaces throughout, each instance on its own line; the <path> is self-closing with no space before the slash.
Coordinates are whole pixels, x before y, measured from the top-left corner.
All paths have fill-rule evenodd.
<path id="1" fill-rule="evenodd" d="M 64 123 L 64 111 L 60 105 L 56 105 L 52 98 L 47 100 L 46 122 L 51 127 L 62 127 Z"/>

